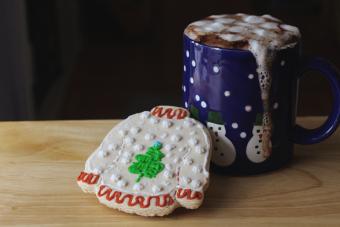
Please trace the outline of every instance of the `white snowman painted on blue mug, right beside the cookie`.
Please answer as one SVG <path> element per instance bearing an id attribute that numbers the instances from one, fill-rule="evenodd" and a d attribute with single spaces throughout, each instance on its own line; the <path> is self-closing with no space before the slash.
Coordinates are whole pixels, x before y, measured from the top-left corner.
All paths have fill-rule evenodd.
<path id="1" fill-rule="evenodd" d="M 218 166 L 229 166 L 236 158 L 236 151 L 233 143 L 225 136 L 225 126 L 207 122 L 208 129 L 213 139 L 214 148 L 212 162 Z"/>

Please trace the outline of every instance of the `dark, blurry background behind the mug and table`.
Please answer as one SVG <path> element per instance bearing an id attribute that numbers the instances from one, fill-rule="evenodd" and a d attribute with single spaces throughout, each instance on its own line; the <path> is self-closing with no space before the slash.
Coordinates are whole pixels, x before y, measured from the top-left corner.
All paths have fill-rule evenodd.
<path id="1" fill-rule="evenodd" d="M 2 0 L 0 120 L 122 118 L 181 105 L 182 32 L 211 14 L 271 14 L 305 55 L 340 66 L 340 3 L 321 0 Z M 326 115 L 328 85 L 300 83 L 299 115 Z"/>

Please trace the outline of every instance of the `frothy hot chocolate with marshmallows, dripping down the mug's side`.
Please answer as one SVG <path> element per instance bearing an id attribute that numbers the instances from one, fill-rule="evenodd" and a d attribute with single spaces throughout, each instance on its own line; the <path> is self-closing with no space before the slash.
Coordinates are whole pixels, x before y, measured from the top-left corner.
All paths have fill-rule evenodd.
<path id="1" fill-rule="evenodd" d="M 184 34 L 195 42 L 217 48 L 249 50 L 257 62 L 257 74 L 263 102 L 263 143 L 265 156 L 271 154 L 272 119 L 269 92 L 272 63 L 279 50 L 294 47 L 299 29 L 270 15 L 212 15 L 189 24 Z"/>

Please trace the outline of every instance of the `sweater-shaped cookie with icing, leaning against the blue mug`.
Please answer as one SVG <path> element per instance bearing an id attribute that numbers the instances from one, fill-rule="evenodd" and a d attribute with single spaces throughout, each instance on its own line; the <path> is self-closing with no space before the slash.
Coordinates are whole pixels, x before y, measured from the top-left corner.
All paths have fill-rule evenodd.
<path id="1" fill-rule="evenodd" d="M 77 182 L 101 203 L 127 213 L 195 209 L 208 186 L 211 147 L 209 132 L 187 110 L 157 106 L 115 126 Z"/>

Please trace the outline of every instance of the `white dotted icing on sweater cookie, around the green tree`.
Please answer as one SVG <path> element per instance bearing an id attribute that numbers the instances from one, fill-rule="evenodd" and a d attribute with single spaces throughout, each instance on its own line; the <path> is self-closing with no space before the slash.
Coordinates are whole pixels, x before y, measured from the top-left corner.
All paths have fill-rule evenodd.
<path id="1" fill-rule="evenodd" d="M 209 177 L 208 133 L 191 118 L 164 119 L 150 112 L 134 114 L 108 133 L 87 160 L 85 172 L 101 174 L 101 184 L 126 193 L 160 195 L 173 193 L 178 186 L 203 191 Z M 131 173 L 129 167 L 137 162 L 136 155 L 145 155 L 156 141 L 162 144 L 164 157 L 160 162 L 164 169 L 154 178 L 143 176 L 137 182 L 139 175 Z M 206 151 L 198 152 L 198 146 Z M 103 151 L 107 155 L 101 156 Z"/>

